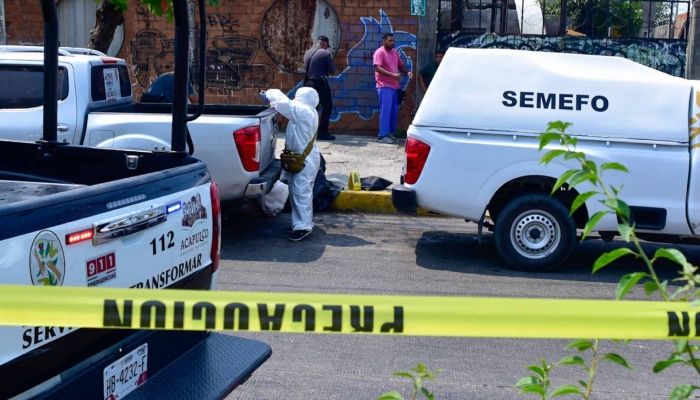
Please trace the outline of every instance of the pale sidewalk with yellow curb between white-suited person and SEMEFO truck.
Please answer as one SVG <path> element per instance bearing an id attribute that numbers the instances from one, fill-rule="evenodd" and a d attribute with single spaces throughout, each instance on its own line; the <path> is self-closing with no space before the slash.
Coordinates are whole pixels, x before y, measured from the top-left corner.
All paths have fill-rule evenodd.
<path id="1" fill-rule="evenodd" d="M 284 132 L 277 137 L 275 156 L 284 149 Z M 332 141 L 318 141 L 318 149 L 326 160 L 326 179 L 343 187 L 331 206 L 337 210 L 365 212 L 397 212 L 391 204 L 391 186 L 400 184 L 404 163 L 405 139 L 397 144 L 377 142 L 373 136 L 336 135 Z M 347 190 L 351 171 L 360 178 L 378 176 L 392 182 L 383 191 Z"/>

